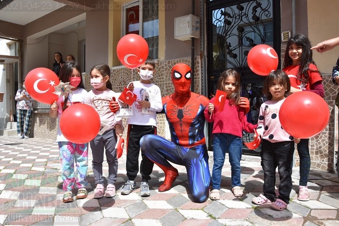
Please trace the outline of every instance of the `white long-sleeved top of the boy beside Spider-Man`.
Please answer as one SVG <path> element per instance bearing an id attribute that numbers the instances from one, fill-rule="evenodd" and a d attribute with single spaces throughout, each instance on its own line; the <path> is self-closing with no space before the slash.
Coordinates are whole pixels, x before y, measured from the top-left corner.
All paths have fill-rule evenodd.
<path id="1" fill-rule="evenodd" d="M 160 88 L 151 83 L 145 84 L 140 81 L 133 82 L 134 90 L 133 93 L 137 95 L 136 101 L 133 103 L 133 116 L 127 118 L 127 124 L 129 125 L 140 125 L 140 126 L 155 126 L 156 127 L 156 111 L 162 110 L 162 100 Z M 142 100 L 144 92 L 152 93 L 154 95 L 154 101 L 150 101 L 150 110 L 153 111 L 152 115 L 143 114 L 141 112 L 141 106 L 138 101 Z"/>

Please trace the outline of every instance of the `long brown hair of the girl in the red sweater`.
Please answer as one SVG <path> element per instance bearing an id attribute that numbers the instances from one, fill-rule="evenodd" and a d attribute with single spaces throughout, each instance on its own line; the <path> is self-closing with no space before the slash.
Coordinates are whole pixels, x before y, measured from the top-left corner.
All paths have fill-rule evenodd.
<path id="1" fill-rule="evenodd" d="M 220 75 L 220 78 L 218 80 L 218 88 L 221 91 L 225 91 L 225 81 L 226 79 L 232 76 L 235 78 L 236 83 L 235 83 L 235 91 L 232 93 L 229 97 L 230 99 L 230 104 L 237 104 L 240 102 L 240 75 L 237 71 L 233 69 L 228 69 L 226 71 L 223 71 Z"/>

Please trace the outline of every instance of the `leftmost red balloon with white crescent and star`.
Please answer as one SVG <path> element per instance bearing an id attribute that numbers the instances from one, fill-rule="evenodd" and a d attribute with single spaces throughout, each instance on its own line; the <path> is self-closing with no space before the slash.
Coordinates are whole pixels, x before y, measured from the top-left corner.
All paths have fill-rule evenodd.
<path id="1" fill-rule="evenodd" d="M 25 78 L 28 94 L 41 103 L 52 104 L 58 100 L 55 86 L 60 82 L 58 76 L 48 68 L 35 68 Z"/>

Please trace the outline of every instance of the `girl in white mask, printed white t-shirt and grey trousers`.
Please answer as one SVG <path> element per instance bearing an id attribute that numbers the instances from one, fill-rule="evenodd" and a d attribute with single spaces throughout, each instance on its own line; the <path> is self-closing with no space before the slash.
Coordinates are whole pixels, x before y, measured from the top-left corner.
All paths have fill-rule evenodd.
<path id="1" fill-rule="evenodd" d="M 112 84 L 109 81 L 111 75 L 110 68 L 105 65 L 96 65 L 91 69 L 91 85 L 94 87 L 85 98 L 85 103 L 91 105 L 97 110 L 101 123 L 108 125 L 102 135 L 97 135 L 91 142 L 93 154 L 92 166 L 95 178 L 96 188 L 94 198 L 99 199 L 104 196 L 104 179 L 102 176 L 102 162 L 104 161 L 104 148 L 106 150 L 106 159 L 108 163 L 107 189 L 105 196 L 108 198 L 115 196 L 115 182 L 118 170 L 118 159 L 116 157 L 117 136 L 122 136 L 122 122 L 115 116 L 115 110 L 111 110 L 112 104 L 118 105 L 115 98 L 115 92 L 112 91 Z"/>

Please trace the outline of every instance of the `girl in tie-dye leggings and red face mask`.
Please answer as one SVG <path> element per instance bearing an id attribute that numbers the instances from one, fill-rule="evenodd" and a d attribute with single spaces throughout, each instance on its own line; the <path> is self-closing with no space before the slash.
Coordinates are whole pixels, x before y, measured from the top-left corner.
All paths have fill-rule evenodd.
<path id="1" fill-rule="evenodd" d="M 83 97 L 87 95 L 87 91 L 84 90 L 82 83 L 81 70 L 77 63 L 67 62 L 60 70 L 59 79 L 65 83 L 69 82 L 74 88 L 71 89 L 72 93 L 69 93 L 66 97 L 59 97 L 58 101 L 54 101 L 51 105 L 50 116 L 52 118 L 58 117 L 58 121 L 60 121 L 62 112 L 68 106 L 75 103 L 83 103 Z M 60 123 L 58 123 L 57 142 L 62 164 L 62 189 L 65 191 L 62 201 L 73 201 L 71 189 L 75 186 L 79 188 L 76 199 L 86 198 L 88 143 L 75 144 L 68 141 L 61 133 Z M 77 178 L 74 176 L 74 161 L 76 163 Z"/>

